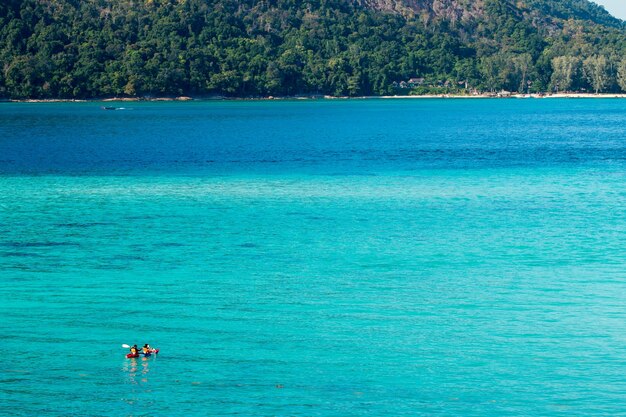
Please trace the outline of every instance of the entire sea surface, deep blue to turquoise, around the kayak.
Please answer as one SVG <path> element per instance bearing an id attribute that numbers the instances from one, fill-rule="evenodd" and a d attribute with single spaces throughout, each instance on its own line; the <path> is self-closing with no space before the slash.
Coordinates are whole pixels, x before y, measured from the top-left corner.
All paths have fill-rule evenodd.
<path id="1" fill-rule="evenodd" d="M 619 100 L 2 104 L 0 415 L 623 415 L 625 126 Z"/>

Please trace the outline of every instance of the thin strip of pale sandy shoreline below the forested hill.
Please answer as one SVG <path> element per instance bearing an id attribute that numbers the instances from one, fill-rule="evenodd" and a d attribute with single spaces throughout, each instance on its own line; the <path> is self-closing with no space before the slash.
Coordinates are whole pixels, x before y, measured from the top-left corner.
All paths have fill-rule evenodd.
<path id="1" fill-rule="evenodd" d="M 557 94 L 429 94 L 429 95 L 394 95 L 394 96 L 285 96 L 285 97 L 109 97 L 95 99 L 4 99 L 0 103 L 128 103 L 128 102 L 187 102 L 187 101 L 281 101 L 281 100 L 432 100 L 432 99 L 623 99 L 626 93 L 557 93 Z"/>

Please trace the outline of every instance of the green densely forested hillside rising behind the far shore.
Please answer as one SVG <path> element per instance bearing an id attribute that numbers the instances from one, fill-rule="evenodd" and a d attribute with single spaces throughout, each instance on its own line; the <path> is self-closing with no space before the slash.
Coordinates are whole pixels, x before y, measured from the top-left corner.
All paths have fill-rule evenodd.
<path id="1" fill-rule="evenodd" d="M 3 0 L 0 97 L 626 90 L 586 0 Z"/>

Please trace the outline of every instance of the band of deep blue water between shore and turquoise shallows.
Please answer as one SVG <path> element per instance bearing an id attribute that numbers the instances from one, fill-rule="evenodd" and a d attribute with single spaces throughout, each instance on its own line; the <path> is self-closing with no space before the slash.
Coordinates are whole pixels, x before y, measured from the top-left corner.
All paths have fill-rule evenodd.
<path id="1" fill-rule="evenodd" d="M 0 172 L 377 174 L 623 166 L 619 100 L 3 104 Z"/>

